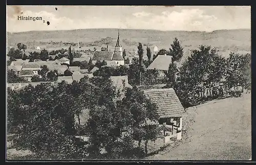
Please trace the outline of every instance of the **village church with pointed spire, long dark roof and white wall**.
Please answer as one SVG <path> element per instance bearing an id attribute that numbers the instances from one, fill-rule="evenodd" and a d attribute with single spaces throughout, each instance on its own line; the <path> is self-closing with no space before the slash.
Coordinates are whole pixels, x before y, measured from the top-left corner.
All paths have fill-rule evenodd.
<path id="1" fill-rule="evenodd" d="M 95 51 L 93 54 L 92 62 L 95 64 L 97 61 L 106 61 L 108 66 L 120 66 L 124 65 L 124 59 L 122 57 L 122 46 L 119 41 L 119 31 L 115 50 L 112 51 Z"/>

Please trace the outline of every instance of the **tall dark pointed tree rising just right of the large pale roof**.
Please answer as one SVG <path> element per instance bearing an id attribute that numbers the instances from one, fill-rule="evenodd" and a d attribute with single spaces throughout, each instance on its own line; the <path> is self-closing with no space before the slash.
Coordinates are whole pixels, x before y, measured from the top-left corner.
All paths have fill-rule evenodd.
<path id="1" fill-rule="evenodd" d="M 178 41 L 177 38 L 174 39 L 174 42 L 170 44 L 172 48 L 169 49 L 169 55 L 173 56 L 173 60 L 180 62 L 182 56 L 183 56 L 183 48 Z"/>

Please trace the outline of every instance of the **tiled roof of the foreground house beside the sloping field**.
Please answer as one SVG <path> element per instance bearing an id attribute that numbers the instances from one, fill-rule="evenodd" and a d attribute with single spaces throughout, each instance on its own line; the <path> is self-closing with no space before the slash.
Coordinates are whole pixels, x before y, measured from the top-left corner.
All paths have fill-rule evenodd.
<path id="1" fill-rule="evenodd" d="M 145 96 L 157 105 L 160 118 L 182 116 L 185 111 L 173 88 L 147 89 Z"/>

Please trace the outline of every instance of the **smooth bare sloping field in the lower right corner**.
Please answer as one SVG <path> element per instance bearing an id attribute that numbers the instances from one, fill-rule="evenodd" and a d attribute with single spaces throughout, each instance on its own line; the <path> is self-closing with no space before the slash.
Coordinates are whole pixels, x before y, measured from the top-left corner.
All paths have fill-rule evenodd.
<path id="1" fill-rule="evenodd" d="M 197 107 L 187 142 L 148 157 L 155 160 L 249 160 L 251 98 L 215 100 Z"/>

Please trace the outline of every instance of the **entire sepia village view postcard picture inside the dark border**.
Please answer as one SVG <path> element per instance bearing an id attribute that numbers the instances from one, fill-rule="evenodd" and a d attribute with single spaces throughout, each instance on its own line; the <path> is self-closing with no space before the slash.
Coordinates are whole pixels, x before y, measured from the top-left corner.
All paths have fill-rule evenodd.
<path id="1" fill-rule="evenodd" d="M 6 161 L 251 160 L 250 6 L 6 9 Z"/>

